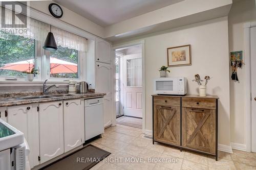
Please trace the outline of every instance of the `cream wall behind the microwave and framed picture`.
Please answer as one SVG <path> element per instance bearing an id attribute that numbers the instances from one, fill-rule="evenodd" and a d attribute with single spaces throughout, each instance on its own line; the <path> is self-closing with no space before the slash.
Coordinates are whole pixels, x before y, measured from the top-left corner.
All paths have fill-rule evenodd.
<path id="1" fill-rule="evenodd" d="M 145 129 L 152 130 L 153 80 L 159 77 L 159 67 L 167 65 L 167 50 L 172 46 L 191 44 L 192 65 L 171 67 L 169 77 L 188 79 L 188 94 L 198 94 L 192 82 L 195 74 L 213 77 L 207 84 L 207 94 L 218 95 L 219 143 L 230 145 L 230 101 L 227 17 L 145 35 L 114 45 L 145 40 Z"/>

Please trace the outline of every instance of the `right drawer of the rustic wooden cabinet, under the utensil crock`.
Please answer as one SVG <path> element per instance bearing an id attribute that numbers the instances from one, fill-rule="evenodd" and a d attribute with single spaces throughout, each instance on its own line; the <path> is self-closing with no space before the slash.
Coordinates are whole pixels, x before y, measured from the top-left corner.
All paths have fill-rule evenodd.
<path id="1" fill-rule="evenodd" d="M 182 107 L 216 109 L 216 99 L 182 98 Z"/>

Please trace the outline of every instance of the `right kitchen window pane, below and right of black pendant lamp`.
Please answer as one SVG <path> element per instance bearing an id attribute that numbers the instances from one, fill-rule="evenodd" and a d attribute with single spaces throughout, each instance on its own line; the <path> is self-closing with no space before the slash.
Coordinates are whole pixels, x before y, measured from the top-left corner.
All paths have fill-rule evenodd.
<path id="1" fill-rule="evenodd" d="M 50 52 L 50 77 L 77 79 L 78 70 L 78 50 L 58 46 Z"/>

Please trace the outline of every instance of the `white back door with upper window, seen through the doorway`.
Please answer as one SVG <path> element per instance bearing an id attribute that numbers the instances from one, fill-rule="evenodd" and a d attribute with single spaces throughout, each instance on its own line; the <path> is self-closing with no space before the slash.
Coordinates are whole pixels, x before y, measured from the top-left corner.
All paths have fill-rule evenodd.
<path id="1" fill-rule="evenodd" d="M 123 57 L 123 114 L 142 118 L 143 87 L 141 54 Z"/>

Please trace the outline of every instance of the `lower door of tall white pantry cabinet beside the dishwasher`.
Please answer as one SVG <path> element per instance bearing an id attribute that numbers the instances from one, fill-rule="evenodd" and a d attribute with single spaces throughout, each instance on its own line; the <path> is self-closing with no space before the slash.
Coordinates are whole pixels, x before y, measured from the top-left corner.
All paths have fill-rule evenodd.
<path id="1" fill-rule="evenodd" d="M 96 62 L 96 91 L 106 93 L 103 98 L 104 127 L 112 124 L 111 65 Z"/>

